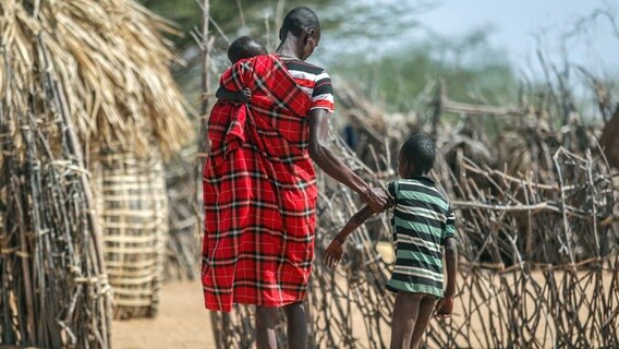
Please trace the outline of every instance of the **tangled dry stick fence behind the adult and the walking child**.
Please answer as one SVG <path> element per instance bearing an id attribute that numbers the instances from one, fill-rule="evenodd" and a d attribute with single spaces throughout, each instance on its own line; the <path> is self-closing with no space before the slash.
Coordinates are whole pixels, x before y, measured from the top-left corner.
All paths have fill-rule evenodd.
<path id="1" fill-rule="evenodd" d="M 364 118 L 362 110 L 373 112 L 365 115 L 360 128 L 369 129 L 361 137 L 365 147 L 357 146 L 363 160 L 338 136 L 332 136 L 332 147 L 367 180 L 385 183 L 393 177 L 389 161 L 400 141 L 381 136 L 389 134 L 390 125 L 379 121 L 384 117 L 376 108 L 348 97 L 343 94 L 343 105 L 353 120 Z M 456 113 L 525 118 L 515 108 L 449 100 L 440 106 Z M 502 144 L 495 145 L 500 152 L 494 156 L 483 141 L 442 134 L 437 143 L 444 154 L 435 177 L 457 212 L 462 264 L 456 313 L 433 321 L 425 344 L 433 348 L 618 346 L 619 234 L 611 224 L 618 193 L 592 130 L 575 123 L 563 129 L 561 140 L 557 133 L 519 122 L 498 139 Z M 393 294 L 384 287 L 393 267 L 388 219 L 379 216 L 353 233 L 347 262 L 327 269 L 320 262 L 324 249 L 360 206 L 345 189 L 326 178 L 320 183 L 316 260 L 306 301 L 310 347 L 385 348 L 393 305 Z M 219 348 L 253 345 L 252 308 L 235 306 L 231 314 L 216 317 L 215 324 Z M 283 346 L 282 324 L 278 335 Z"/>

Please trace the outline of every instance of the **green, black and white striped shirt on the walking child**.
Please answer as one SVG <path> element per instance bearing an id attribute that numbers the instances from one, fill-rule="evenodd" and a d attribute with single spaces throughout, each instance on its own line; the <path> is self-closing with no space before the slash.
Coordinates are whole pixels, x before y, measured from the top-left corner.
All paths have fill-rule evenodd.
<path id="1" fill-rule="evenodd" d="M 442 251 L 456 234 L 448 200 L 425 177 L 395 181 L 387 192 L 396 203 L 396 268 L 387 289 L 442 297 Z"/>

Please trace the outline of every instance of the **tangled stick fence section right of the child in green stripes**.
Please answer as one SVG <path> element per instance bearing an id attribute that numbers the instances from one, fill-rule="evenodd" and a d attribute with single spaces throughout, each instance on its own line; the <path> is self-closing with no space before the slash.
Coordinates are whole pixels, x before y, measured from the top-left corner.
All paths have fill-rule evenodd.
<path id="1" fill-rule="evenodd" d="M 465 316 L 434 323 L 432 347 L 619 345 L 617 234 L 602 224 L 616 203 L 610 171 L 591 153 L 559 147 L 553 158 L 554 185 L 461 158 L 453 184 L 465 200 L 453 206 L 466 261 L 457 313 Z"/>

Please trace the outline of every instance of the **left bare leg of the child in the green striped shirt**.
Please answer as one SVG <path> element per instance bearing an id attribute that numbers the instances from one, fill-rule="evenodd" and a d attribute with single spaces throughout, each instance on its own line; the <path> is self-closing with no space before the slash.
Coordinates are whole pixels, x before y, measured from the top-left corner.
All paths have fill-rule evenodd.
<path id="1" fill-rule="evenodd" d="M 391 345 L 390 349 L 408 349 L 411 347 L 411 338 L 420 311 L 420 302 L 423 294 L 399 291 L 393 305 L 393 318 L 391 320 Z"/>

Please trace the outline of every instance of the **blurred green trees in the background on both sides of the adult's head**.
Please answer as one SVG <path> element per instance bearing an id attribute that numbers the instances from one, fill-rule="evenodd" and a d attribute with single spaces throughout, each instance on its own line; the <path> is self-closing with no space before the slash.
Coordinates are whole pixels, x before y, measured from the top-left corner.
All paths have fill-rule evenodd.
<path id="1" fill-rule="evenodd" d="M 172 38 L 182 52 L 195 50 L 189 32 L 199 27 L 201 9 L 196 0 L 142 0 L 142 3 L 177 23 L 185 33 Z M 281 3 L 284 8 L 278 7 Z M 415 97 L 428 83 L 438 80 L 446 83 L 449 96 L 458 100 L 491 104 L 510 99 L 514 93 L 509 87 L 517 84 L 507 58 L 488 44 L 491 28 L 482 27 L 456 39 L 436 35 L 429 35 L 428 39 L 427 33 L 426 38 L 421 37 L 423 31 L 415 16 L 432 11 L 435 3 L 433 0 L 316 0 L 311 4 L 302 0 L 211 0 L 210 16 L 219 26 L 211 26 L 215 53 L 222 55 L 228 40 L 241 35 L 251 35 L 275 49 L 276 17 L 281 20 L 294 7 L 310 5 L 320 16 L 324 38 L 312 61 L 362 88 L 373 100 L 384 101 L 391 111 L 425 107 Z M 184 56 L 187 59 L 191 55 Z M 193 55 L 194 60 L 189 59 L 189 65 L 178 73 L 193 103 L 199 91 L 196 57 Z M 228 64 L 223 56 L 214 63 L 216 71 Z"/>

